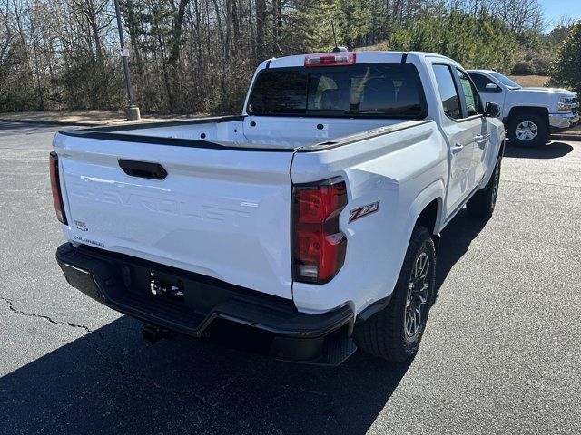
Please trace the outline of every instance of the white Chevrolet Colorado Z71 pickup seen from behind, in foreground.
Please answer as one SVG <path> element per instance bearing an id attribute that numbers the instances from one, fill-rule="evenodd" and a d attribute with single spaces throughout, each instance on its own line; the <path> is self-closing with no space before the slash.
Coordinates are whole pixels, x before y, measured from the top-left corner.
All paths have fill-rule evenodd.
<path id="1" fill-rule="evenodd" d="M 437 290 L 439 232 L 465 205 L 494 210 L 497 115 L 438 54 L 271 59 L 241 116 L 59 131 L 56 258 L 153 342 L 403 361 Z"/>

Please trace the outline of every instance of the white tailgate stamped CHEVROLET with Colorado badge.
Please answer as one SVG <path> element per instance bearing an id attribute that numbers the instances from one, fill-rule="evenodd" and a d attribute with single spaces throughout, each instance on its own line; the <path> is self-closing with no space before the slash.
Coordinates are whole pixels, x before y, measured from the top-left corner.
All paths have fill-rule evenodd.
<path id="1" fill-rule="evenodd" d="M 69 240 L 292 297 L 292 150 L 64 134 L 55 137 L 54 150 Z M 128 175 L 120 160 L 158 164 L 167 175 L 140 170 L 139 163 Z"/>

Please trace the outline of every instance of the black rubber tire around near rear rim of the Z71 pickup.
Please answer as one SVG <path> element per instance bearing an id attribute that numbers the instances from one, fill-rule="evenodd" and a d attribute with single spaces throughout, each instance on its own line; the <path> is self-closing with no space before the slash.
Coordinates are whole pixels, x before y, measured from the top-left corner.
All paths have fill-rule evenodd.
<path id="1" fill-rule="evenodd" d="M 406 333 L 406 308 L 410 279 L 416 260 L 422 253 L 429 259 L 428 293 L 425 314 L 419 323 L 418 334 L 409 337 Z M 408 251 L 399 272 L 398 282 L 388 306 L 361 324 L 356 324 L 355 342 L 367 353 L 392 362 L 404 362 L 417 352 L 419 342 L 426 328 L 429 307 L 433 303 L 436 286 L 436 250 L 434 240 L 425 227 L 414 228 L 409 240 Z"/>

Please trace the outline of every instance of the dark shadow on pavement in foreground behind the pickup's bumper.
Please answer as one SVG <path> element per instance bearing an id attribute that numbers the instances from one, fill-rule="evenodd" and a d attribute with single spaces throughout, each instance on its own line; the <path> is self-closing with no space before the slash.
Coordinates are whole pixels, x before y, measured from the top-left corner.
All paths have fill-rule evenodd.
<path id="1" fill-rule="evenodd" d="M 123 316 L 1 378 L 0 433 L 363 434 L 408 368 L 361 352 L 321 368 L 183 336 L 148 344 Z"/>

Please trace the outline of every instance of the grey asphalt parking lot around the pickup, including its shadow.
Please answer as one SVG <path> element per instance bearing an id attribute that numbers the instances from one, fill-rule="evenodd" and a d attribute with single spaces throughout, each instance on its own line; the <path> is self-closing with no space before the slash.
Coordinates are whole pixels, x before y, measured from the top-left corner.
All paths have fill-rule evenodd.
<path id="1" fill-rule="evenodd" d="M 404 365 L 275 362 L 137 321 L 54 261 L 56 127 L 0 123 L 0 433 L 580 433 L 581 142 L 507 147 L 495 216 L 442 235 Z"/>

